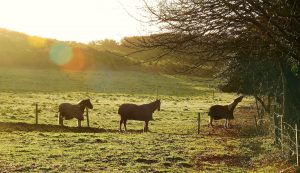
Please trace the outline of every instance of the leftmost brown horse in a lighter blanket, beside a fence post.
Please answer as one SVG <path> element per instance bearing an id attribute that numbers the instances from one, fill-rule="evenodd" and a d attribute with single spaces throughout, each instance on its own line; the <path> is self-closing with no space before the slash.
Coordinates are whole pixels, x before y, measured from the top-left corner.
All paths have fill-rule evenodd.
<path id="1" fill-rule="evenodd" d="M 77 118 L 78 127 L 81 127 L 81 121 L 84 120 L 83 113 L 84 109 L 89 108 L 93 109 L 93 105 L 90 99 L 81 100 L 78 104 L 70 104 L 70 103 L 62 103 L 58 108 L 58 123 L 63 126 L 64 119 L 70 120 L 73 118 Z"/>

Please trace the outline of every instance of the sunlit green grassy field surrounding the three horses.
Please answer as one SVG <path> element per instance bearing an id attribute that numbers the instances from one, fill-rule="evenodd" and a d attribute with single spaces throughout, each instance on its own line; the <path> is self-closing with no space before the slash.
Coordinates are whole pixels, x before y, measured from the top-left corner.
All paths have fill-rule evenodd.
<path id="1" fill-rule="evenodd" d="M 0 172 L 278 172 L 283 165 L 272 138 L 255 135 L 251 98 L 238 105 L 231 129 L 223 121 L 207 127 L 208 108 L 236 97 L 215 92 L 213 99 L 209 85 L 214 82 L 132 71 L 2 68 Z M 128 132 L 120 133 L 118 106 L 151 102 L 157 89 L 162 105 L 150 132 L 142 133 L 143 122 L 128 121 Z M 59 103 L 87 97 L 94 104 L 91 128 L 78 129 L 75 120 L 57 125 Z M 40 125 L 34 125 L 35 103 Z"/>

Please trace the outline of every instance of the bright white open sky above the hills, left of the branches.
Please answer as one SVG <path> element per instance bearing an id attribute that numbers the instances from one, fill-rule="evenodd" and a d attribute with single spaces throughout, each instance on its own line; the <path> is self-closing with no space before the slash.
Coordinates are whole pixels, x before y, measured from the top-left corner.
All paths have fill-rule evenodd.
<path id="1" fill-rule="evenodd" d="M 0 27 L 33 36 L 88 43 L 146 35 L 141 0 L 0 0 Z"/>

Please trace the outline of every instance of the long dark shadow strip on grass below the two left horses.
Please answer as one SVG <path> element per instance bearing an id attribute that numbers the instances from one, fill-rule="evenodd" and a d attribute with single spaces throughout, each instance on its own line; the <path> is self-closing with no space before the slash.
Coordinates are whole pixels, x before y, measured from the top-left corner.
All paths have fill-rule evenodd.
<path id="1" fill-rule="evenodd" d="M 28 124 L 28 123 L 13 123 L 13 122 L 0 122 L 0 132 L 75 132 L 75 133 L 123 133 L 117 129 L 104 129 L 94 127 L 68 127 L 51 124 Z M 127 130 L 126 133 L 143 133 L 142 130 Z"/>

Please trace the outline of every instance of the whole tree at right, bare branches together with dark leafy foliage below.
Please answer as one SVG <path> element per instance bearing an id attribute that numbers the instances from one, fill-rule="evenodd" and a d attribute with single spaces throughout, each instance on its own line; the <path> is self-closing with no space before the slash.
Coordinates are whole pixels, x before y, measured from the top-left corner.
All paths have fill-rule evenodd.
<path id="1" fill-rule="evenodd" d="M 192 69 L 209 61 L 227 62 L 224 73 L 227 75 L 221 77 L 231 78 L 239 85 L 227 84 L 232 85 L 231 91 L 235 92 L 271 93 L 274 88 L 265 91 L 266 87 L 277 84 L 280 74 L 281 86 L 275 85 L 275 88 L 282 89 L 277 96 L 283 93 L 284 118 L 300 122 L 296 116 L 300 113 L 300 80 L 295 75 L 295 65 L 300 62 L 300 4 L 297 0 L 144 2 L 152 17 L 150 23 L 160 24 L 164 34 L 141 40 L 142 47 L 163 47 L 172 53 L 187 55 L 189 58 L 185 57 L 184 61 L 194 62 L 189 67 Z"/>

